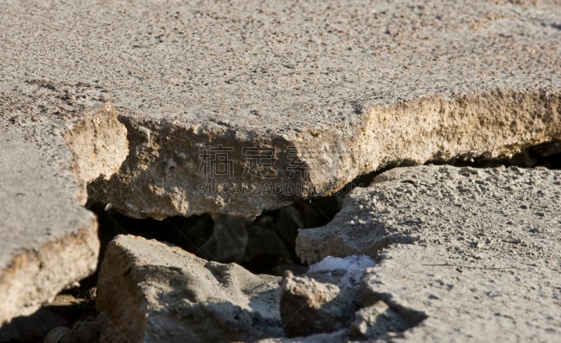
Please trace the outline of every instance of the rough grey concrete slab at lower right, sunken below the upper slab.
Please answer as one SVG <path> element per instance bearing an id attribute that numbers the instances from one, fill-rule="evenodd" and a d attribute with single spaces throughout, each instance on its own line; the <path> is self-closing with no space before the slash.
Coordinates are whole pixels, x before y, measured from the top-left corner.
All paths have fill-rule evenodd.
<path id="1" fill-rule="evenodd" d="M 301 230 L 297 253 L 377 255 L 363 305 L 419 323 L 399 342 L 555 342 L 560 184 L 545 168 L 396 168 L 326 227 Z"/>

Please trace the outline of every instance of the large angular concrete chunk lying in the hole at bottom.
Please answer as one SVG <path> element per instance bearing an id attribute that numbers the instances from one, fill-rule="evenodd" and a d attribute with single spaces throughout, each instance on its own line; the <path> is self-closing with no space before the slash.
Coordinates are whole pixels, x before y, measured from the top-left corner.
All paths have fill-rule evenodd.
<path id="1" fill-rule="evenodd" d="M 232 342 L 282 336 L 278 277 L 207 262 L 137 236 L 109 243 L 96 307 L 116 332 L 102 342 Z"/>

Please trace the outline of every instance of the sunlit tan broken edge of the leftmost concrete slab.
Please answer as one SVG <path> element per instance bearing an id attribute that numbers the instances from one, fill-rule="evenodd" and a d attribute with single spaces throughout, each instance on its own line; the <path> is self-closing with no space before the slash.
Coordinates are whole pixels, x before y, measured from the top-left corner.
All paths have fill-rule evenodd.
<path id="1" fill-rule="evenodd" d="M 73 165 L 67 167 L 72 169 L 80 189 L 72 196 L 81 205 L 87 201 L 86 184 L 98 175 L 114 173 L 128 154 L 126 129 L 116 119 L 116 111 L 107 104 L 97 111 L 84 111 L 79 121 L 62 128 L 74 158 Z M 0 325 L 15 316 L 32 314 L 67 285 L 95 271 L 100 250 L 97 220 L 93 213 L 87 210 L 83 213 L 89 216 L 88 224 L 48 241 L 38 250 L 22 250 L 0 270 L 0 289 L 7 291 Z M 61 268 L 66 270 L 65 274 L 51 272 Z M 27 293 L 22 294 L 18 289 L 27 289 Z"/>

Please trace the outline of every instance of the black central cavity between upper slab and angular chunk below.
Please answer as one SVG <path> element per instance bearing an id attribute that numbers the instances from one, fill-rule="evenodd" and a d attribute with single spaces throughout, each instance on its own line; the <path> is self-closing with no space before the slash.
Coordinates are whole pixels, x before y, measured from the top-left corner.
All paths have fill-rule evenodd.
<path id="1" fill-rule="evenodd" d="M 327 224 L 339 212 L 342 200 L 342 194 L 335 194 L 297 201 L 264 211 L 252 221 L 208 214 L 137 220 L 104 210 L 102 203 L 90 203 L 88 207 L 98 217 L 101 258 L 114 236 L 133 234 L 173 243 L 205 260 L 236 262 L 256 274 L 281 275 L 287 269 L 295 273 L 306 270 L 295 253 L 298 229 Z"/>

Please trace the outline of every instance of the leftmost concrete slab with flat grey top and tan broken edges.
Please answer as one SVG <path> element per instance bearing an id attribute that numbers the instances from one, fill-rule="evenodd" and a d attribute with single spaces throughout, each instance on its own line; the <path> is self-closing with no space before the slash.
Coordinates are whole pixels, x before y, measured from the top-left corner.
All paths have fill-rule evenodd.
<path id="1" fill-rule="evenodd" d="M 16 99 L 0 98 L 0 323 L 95 271 L 100 243 L 82 206 L 86 183 L 114 173 L 128 153 L 109 106 L 66 121 L 35 107 L 22 114 Z"/>

